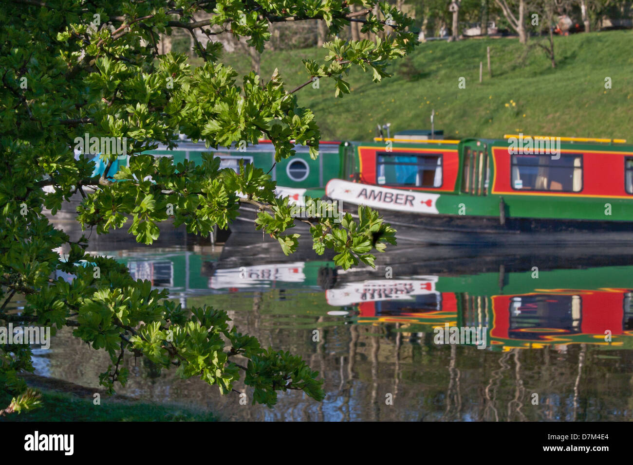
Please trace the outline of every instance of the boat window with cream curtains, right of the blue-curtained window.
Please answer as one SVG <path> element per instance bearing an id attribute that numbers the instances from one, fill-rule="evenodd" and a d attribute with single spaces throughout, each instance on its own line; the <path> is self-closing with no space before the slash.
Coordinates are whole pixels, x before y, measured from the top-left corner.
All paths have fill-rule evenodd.
<path id="1" fill-rule="evenodd" d="M 543 155 L 512 156 L 512 189 L 580 192 L 582 190 L 582 155 L 560 155 L 559 159 Z"/>

